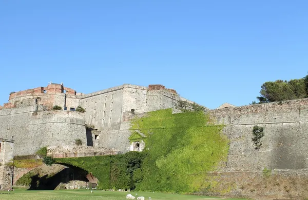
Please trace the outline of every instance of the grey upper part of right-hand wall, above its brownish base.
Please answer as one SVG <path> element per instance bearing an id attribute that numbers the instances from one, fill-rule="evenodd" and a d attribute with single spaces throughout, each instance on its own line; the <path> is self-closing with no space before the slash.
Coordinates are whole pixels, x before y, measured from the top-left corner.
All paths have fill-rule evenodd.
<path id="1" fill-rule="evenodd" d="M 211 110 L 230 139 L 227 171 L 308 168 L 308 99 Z M 255 149 L 252 130 L 264 127 Z"/>

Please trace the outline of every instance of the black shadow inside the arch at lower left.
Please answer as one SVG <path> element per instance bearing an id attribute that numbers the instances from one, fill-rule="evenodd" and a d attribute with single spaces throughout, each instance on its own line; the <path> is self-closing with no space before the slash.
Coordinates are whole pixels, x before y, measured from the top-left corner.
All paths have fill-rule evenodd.
<path id="1" fill-rule="evenodd" d="M 51 174 L 44 176 L 36 174 L 31 176 L 31 184 L 28 190 L 54 190 L 59 184 L 66 184 L 70 181 L 89 182 L 87 174 L 87 171 L 75 167 L 65 168 L 52 176 L 50 176 Z"/>

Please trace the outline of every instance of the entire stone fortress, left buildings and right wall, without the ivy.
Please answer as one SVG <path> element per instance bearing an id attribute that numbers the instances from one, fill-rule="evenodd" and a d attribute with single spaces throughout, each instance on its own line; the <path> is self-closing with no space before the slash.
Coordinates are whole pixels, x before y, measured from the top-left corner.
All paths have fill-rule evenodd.
<path id="1" fill-rule="evenodd" d="M 178 112 L 179 100 L 193 103 L 162 85 L 124 84 L 82 94 L 63 84 L 49 84 L 10 94 L 9 102 L 0 109 L 0 137 L 14 139 L 14 155 L 34 154 L 44 146 L 54 147 L 54 153 L 71 152 L 75 139 L 81 139 L 89 151 L 90 147 L 116 152 L 142 150 L 142 144 L 129 142 L 130 120 L 160 109 Z M 52 110 L 55 105 L 63 109 Z M 76 112 L 78 106 L 85 112 Z M 260 191 L 265 196 L 281 192 L 308 196 L 307 98 L 241 107 L 226 103 L 214 110 L 205 108 L 205 112 L 215 124 L 225 125 L 223 134 L 230 140 L 227 162 L 213 174 L 219 174 L 221 190 L 236 188 L 226 191 L 235 196 L 256 196 Z M 264 127 L 265 132 L 258 150 L 252 142 L 255 125 Z M 278 174 L 279 183 L 276 179 L 264 181 L 264 169 Z M 261 188 L 264 183 L 268 187 Z"/>

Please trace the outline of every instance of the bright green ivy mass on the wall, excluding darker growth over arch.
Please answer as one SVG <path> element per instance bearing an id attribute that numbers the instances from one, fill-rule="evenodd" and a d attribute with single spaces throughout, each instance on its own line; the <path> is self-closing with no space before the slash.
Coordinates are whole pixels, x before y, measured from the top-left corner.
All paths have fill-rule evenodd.
<path id="1" fill-rule="evenodd" d="M 223 126 L 208 119 L 203 112 L 172 114 L 171 109 L 134 119 L 132 132 L 146 135 L 142 181 L 136 189 L 194 192 L 208 187 L 207 172 L 226 161 L 229 148 L 227 137 L 220 134 Z"/>

